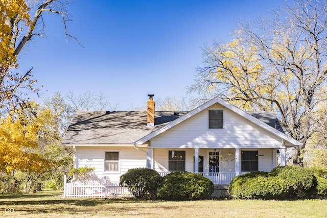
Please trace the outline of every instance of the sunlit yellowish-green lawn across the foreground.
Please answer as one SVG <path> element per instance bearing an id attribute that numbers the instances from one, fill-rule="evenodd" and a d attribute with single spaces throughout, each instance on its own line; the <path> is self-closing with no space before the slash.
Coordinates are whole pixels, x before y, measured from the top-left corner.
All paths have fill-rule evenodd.
<path id="1" fill-rule="evenodd" d="M 5 211 L 14 209 L 13 212 Z M 0 217 L 327 217 L 327 200 L 137 201 L 62 198 L 58 191 L 0 195 Z"/>

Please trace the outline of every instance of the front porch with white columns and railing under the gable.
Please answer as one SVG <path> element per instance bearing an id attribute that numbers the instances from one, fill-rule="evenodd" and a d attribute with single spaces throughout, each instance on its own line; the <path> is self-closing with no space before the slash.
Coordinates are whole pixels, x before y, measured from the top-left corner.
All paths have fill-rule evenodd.
<path id="1" fill-rule="evenodd" d="M 253 171 L 269 172 L 277 165 L 286 165 L 285 150 L 151 148 L 147 152 L 147 168 L 155 169 L 161 176 L 175 171 L 193 172 L 212 180 L 215 185 L 229 185 L 238 175 Z M 277 163 L 278 159 L 280 162 Z"/>

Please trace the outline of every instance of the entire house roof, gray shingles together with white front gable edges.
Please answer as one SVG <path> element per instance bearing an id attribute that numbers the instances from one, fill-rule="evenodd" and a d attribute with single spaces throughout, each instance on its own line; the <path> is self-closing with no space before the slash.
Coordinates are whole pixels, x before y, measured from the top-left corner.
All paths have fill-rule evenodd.
<path id="1" fill-rule="evenodd" d="M 245 112 L 218 97 L 190 112 L 156 111 L 154 127 L 147 126 L 147 111 L 77 111 L 61 144 L 143 144 L 215 103 L 281 138 L 281 142 L 286 140 L 292 146 L 301 144 L 284 133 L 274 112 Z"/>

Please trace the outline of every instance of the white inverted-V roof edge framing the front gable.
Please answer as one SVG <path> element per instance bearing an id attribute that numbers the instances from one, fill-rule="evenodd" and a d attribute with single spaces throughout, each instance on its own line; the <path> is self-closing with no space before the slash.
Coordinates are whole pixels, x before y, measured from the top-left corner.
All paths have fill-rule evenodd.
<path id="1" fill-rule="evenodd" d="M 251 123 L 253 123 L 253 124 L 267 130 L 269 133 L 281 138 L 281 143 L 283 143 L 282 140 L 285 140 L 285 141 L 289 142 L 292 146 L 300 146 L 301 145 L 301 143 L 299 141 L 297 141 L 297 140 L 293 139 L 292 137 L 286 135 L 284 133 L 284 131 L 281 132 L 281 131 L 273 128 L 272 126 L 262 122 L 260 119 L 255 118 L 255 116 L 258 116 L 258 117 L 261 117 L 263 120 L 267 120 L 267 116 L 263 116 L 263 113 L 265 113 L 265 112 L 252 113 L 252 115 L 254 115 L 254 116 L 252 116 L 252 115 L 250 115 L 250 113 L 247 113 L 247 112 L 245 112 L 245 111 L 243 111 L 243 110 L 229 104 L 228 102 L 220 99 L 219 97 L 216 97 L 216 98 L 204 103 L 203 105 L 195 108 L 194 110 L 190 111 L 189 113 L 186 113 L 185 115 L 173 120 L 171 123 L 165 125 L 164 127 L 161 127 L 159 129 L 153 131 L 152 133 L 138 139 L 137 141 L 134 142 L 134 144 L 135 145 L 143 144 L 146 141 L 150 140 L 151 138 L 161 134 L 162 132 L 165 132 L 166 130 L 176 126 L 177 124 L 180 124 L 184 120 L 194 116 L 195 114 L 203 111 L 204 109 L 206 109 L 206 108 L 208 108 L 208 107 L 210 107 L 210 106 L 212 106 L 212 105 L 214 105 L 216 103 L 222 105 L 225 108 L 228 108 L 229 110 L 231 110 L 231 111 L 239 114 L 243 118 L 249 120 Z M 271 122 L 269 122 L 269 123 L 271 123 Z M 280 128 L 280 129 L 282 129 L 282 128 Z"/>

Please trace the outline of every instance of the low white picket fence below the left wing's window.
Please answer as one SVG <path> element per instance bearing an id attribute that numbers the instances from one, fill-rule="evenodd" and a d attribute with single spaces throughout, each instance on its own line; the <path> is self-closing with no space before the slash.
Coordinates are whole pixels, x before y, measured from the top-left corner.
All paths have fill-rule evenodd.
<path id="1" fill-rule="evenodd" d="M 66 181 L 66 176 L 64 178 Z M 108 198 L 108 197 L 132 197 L 132 193 L 126 187 L 119 184 L 106 184 L 101 182 L 66 183 L 64 184 L 63 197 L 69 198 Z"/>

